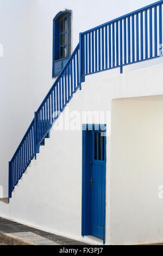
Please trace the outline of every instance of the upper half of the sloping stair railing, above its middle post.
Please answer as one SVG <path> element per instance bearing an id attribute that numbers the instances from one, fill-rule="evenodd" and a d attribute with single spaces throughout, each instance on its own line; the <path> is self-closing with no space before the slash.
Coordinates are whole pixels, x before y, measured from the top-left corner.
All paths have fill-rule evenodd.
<path id="1" fill-rule="evenodd" d="M 72 53 L 70 59 L 62 69 L 60 75 L 55 81 L 53 87 L 49 90 L 45 99 L 36 112 L 37 138 L 36 146 L 39 147 L 42 140 L 51 130 L 54 122 L 58 119 L 61 112 L 64 111 L 67 103 L 71 100 L 74 93 L 80 87 L 79 76 L 79 44 Z M 41 121 L 47 120 L 45 125 Z"/>

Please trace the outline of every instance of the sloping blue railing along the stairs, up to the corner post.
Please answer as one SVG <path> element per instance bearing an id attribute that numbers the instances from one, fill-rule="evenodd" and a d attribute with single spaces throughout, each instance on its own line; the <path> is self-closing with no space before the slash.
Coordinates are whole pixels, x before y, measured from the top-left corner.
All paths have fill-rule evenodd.
<path id="1" fill-rule="evenodd" d="M 65 68 L 55 80 L 51 90 L 35 112 L 35 117 L 9 162 L 9 198 L 18 180 L 30 162 L 39 153 L 39 147 L 48 136 L 54 122 L 64 111 L 73 94 L 80 88 L 79 45 L 68 60 Z"/>

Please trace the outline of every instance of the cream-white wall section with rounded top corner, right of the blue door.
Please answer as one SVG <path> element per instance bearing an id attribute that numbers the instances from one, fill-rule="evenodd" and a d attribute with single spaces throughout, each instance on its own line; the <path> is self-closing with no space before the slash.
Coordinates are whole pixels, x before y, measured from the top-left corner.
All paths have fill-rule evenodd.
<path id="1" fill-rule="evenodd" d="M 110 242 L 163 241 L 163 96 L 112 101 Z"/>

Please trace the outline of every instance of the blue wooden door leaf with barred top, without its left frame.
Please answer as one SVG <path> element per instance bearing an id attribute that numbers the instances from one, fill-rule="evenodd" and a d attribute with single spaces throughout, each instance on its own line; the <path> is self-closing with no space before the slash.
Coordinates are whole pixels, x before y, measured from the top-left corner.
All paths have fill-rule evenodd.
<path id="1" fill-rule="evenodd" d="M 105 236 L 105 173 L 106 137 L 101 131 L 92 132 L 91 233 L 104 240 Z"/>

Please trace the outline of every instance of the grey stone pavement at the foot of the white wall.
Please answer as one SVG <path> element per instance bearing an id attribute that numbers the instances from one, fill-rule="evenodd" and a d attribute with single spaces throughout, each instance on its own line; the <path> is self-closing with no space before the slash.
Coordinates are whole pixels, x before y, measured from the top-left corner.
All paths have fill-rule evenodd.
<path id="1" fill-rule="evenodd" d="M 15 241 L 20 239 L 20 241 L 34 243 L 34 245 L 86 245 L 83 242 L 54 235 L 1 217 L 0 232 L 11 236 L 12 240 L 15 237 Z M 0 245 L 4 245 L 3 243 L 7 242 L 0 241 Z M 17 245 L 17 243 L 15 242 L 14 244 Z"/>

